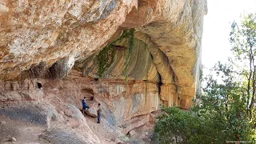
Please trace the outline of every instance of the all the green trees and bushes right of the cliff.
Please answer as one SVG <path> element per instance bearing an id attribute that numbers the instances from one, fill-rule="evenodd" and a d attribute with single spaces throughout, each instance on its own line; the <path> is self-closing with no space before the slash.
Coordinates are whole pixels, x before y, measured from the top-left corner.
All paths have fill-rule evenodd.
<path id="1" fill-rule="evenodd" d="M 256 15 L 231 27 L 234 58 L 203 78 L 201 102 L 191 110 L 162 109 L 154 127 L 159 143 L 255 142 Z"/>

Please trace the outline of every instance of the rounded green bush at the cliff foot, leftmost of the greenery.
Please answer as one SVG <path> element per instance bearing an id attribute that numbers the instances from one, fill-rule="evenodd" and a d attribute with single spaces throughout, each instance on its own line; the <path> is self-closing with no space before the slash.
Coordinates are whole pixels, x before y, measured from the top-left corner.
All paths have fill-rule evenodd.
<path id="1" fill-rule="evenodd" d="M 158 123 L 154 126 L 159 143 L 193 143 L 193 139 L 202 143 L 202 134 L 199 134 L 202 124 L 197 116 L 176 107 L 162 110 L 165 113 L 158 117 Z"/>

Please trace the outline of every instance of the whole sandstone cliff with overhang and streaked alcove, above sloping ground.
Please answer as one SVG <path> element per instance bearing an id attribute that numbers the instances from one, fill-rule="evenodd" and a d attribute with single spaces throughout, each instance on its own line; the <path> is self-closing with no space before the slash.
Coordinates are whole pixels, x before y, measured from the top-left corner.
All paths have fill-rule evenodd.
<path id="1" fill-rule="evenodd" d="M 15 99 L 15 90 L 33 99 L 40 95 L 36 82 L 46 87 L 44 98 L 56 93 L 78 107 L 83 95 L 94 95 L 124 133 L 149 122 L 160 104 L 188 109 L 198 88 L 206 13 L 206 0 L 0 0 L 1 100 Z M 129 38 L 115 40 L 131 28 L 127 62 Z"/>

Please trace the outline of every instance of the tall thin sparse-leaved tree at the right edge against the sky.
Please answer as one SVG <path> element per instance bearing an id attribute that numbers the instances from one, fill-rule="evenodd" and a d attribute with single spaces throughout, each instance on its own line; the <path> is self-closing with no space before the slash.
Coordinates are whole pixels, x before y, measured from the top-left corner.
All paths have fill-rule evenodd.
<path id="1" fill-rule="evenodd" d="M 247 114 L 252 118 L 256 94 L 256 16 L 254 14 L 244 17 L 241 24 L 233 22 L 230 43 L 234 57 L 243 63 L 241 74 L 246 78 L 246 109 Z"/>

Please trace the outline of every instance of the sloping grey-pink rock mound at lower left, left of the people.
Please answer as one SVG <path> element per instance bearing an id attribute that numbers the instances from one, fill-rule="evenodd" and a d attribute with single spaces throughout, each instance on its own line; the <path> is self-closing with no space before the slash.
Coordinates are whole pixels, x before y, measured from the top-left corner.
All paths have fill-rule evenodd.
<path id="1" fill-rule="evenodd" d="M 100 143 L 74 97 L 56 94 L 58 86 L 38 89 L 36 82 L 26 80 L 10 82 L 10 87 L 8 83 L 0 86 L 0 119 L 6 122 L 0 125 L 1 143 L 10 135 L 18 143 Z M 11 88 L 14 83 L 15 90 Z"/>

